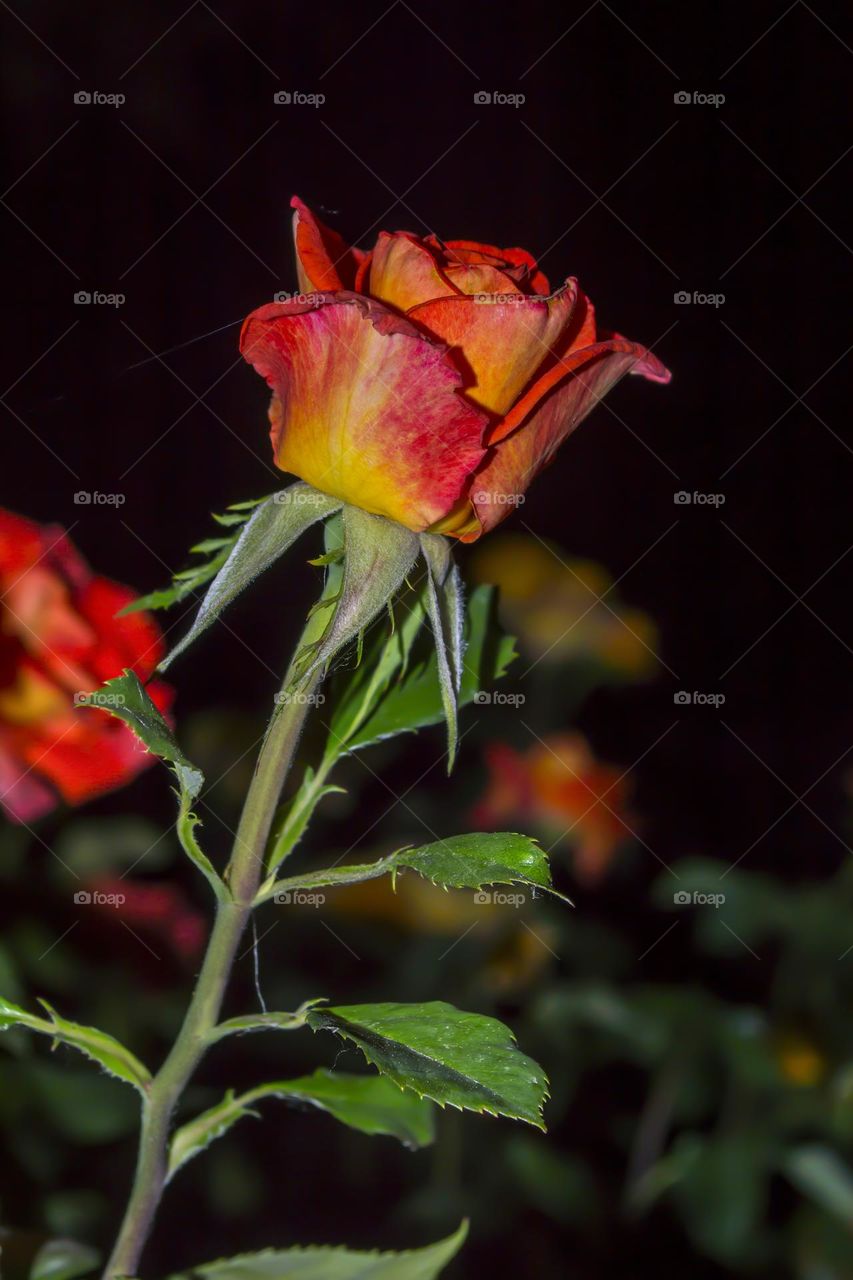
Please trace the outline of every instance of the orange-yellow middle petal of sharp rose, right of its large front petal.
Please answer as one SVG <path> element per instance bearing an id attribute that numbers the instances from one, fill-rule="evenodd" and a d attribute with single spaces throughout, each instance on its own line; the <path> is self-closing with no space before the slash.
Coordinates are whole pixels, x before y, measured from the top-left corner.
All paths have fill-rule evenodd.
<path id="1" fill-rule="evenodd" d="M 548 298 L 505 293 L 500 301 L 479 297 L 437 298 L 412 307 L 409 319 L 450 343 L 470 376 L 471 399 L 493 413 L 506 413 L 537 371 L 571 343 L 578 285 Z"/>

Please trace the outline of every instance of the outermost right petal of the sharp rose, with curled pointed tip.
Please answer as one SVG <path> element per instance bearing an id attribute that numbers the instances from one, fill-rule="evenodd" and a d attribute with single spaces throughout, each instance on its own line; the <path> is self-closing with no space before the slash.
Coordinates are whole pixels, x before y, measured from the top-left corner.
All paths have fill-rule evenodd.
<path id="1" fill-rule="evenodd" d="M 528 397 L 523 397 L 492 434 L 493 447 L 470 485 L 479 529 L 465 529 L 457 536 L 475 541 L 508 516 L 564 440 L 629 372 L 658 383 L 670 380 L 669 370 L 656 356 L 619 335 L 575 349 L 549 370 L 542 379 L 546 385 L 537 384 L 529 393 L 526 413 Z M 506 422 L 516 417 L 516 411 L 523 415 L 521 425 L 506 434 Z"/>

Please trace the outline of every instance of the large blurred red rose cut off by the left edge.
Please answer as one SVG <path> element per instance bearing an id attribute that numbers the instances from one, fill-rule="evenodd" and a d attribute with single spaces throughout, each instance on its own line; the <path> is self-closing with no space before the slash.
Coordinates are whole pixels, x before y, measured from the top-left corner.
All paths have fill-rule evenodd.
<path id="1" fill-rule="evenodd" d="M 120 721 L 74 703 L 124 667 L 146 680 L 163 658 L 149 614 L 115 617 L 133 599 L 61 529 L 0 508 L 0 806 L 13 822 L 111 791 L 155 759 Z M 167 685 L 149 694 L 161 710 L 172 701 Z"/>

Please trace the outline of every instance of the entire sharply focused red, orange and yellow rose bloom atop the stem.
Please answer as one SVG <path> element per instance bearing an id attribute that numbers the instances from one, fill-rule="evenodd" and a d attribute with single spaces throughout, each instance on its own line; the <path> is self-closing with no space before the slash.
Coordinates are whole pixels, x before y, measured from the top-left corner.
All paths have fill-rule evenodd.
<path id="1" fill-rule="evenodd" d="M 254 311 L 241 351 L 277 466 L 323 493 L 474 541 L 624 374 L 670 380 L 525 250 L 380 232 L 364 252 L 291 204 L 302 293 Z"/>

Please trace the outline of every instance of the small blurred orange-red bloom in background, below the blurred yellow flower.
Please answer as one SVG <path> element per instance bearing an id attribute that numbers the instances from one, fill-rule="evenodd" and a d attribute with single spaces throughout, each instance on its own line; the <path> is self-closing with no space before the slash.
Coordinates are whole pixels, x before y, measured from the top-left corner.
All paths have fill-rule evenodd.
<path id="1" fill-rule="evenodd" d="M 526 822 L 548 844 L 571 847 L 578 879 L 597 883 L 631 835 L 620 773 L 597 760 L 580 733 L 551 733 L 528 751 L 492 742 L 485 763 L 489 782 L 474 822 L 492 829 Z"/>

